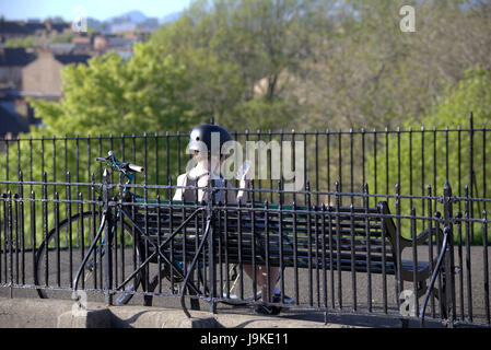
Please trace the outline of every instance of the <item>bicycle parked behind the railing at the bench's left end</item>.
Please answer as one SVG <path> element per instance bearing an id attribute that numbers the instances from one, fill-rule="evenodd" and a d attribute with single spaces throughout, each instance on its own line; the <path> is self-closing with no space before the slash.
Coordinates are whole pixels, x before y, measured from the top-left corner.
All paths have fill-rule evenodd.
<path id="1" fill-rule="evenodd" d="M 121 198 L 122 202 L 130 202 L 136 200 L 141 200 L 142 197 L 132 194 L 129 190 L 135 173 L 143 173 L 144 168 L 139 165 L 135 165 L 127 162 L 119 162 L 115 156 L 113 151 L 108 152 L 107 158 L 96 158 L 98 162 L 105 162 L 113 171 L 116 171 L 126 178 L 126 183 L 122 185 Z M 128 223 L 128 219 L 131 223 Z M 108 237 L 103 237 L 105 226 L 108 225 L 107 232 Z M 122 229 L 122 233 L 118 235 L 118 226 Z M 96 228 L 98 228 L 96 230 Z M 75 240 L 73 240 L 75 235 Z M 118 255 L 118 249 L 120 252 L 120 259 L 124 260 L 122 267 L 125 265 L 131 264 L 132 270 L 138 268 L 138 265 L 142 261 L 144 249 L 140 238 L 140 233 L 138 229 L 136 230 L 132 223 L 131 214 L 124 208 L 119 202 L 116 206 L 116 212 L 101 211 L 101 208 L 90 211 L 82 211 L 59 221 L 55 229 L 51 229 L 46 238 L 39 245 L 35 255 L 35 268 L 34 268 L 34 282 L 35 285 L 43 285 L 44 288 L 36 289 L 39 298 L 48 299 L 52 298 L 56 290 L 61 288 L 60 279 L 61 273 L 69 273 L 70 288 L 77 290 L 79 280 L 81 280 L 81 285 L 85 291 L 101 290 L 103 285 L 103 258 L 106 254 L 105 245 L 106 241 L 109 240 L 109 246 L 112 250 L 115 250 L 116 256 Z M 60 247 L 60 242 L 65 241 L 65 247 Z M 74 242 L 73 242 L 74 241 Z M 100 244 L 97 242 L 101 241 Z M 85 252 L 85 244 L 91 244 Z M 125 257 L 125 252 L 130 249 L 131 254 Z M 67 258 L 61 257 L 61 253 L 69 250 L 68 261 Z M 81 262 L 79 270 L 77 271 L 77 277 L 73 277 L 73 266 L 75 265 L 73 259 L 77 257 L 73 254 L 74 250 L 80 252 Z M 94 254 L 92 255 L 92 253 Z M 91 257 L 92 255 L 92 257 Z M 54 273 L 49 269 L 50 264 L 56 261 L 56 287 L 52 288 L 49 283 L 49 277 Z M 124 269 L 124 268 L 122 268 Z M 174 266 L 174 276 L 171 278 L 168 268 L 164 268 L 161 273 L 157 273 L 152 281 L 145 285 L 144 289 L 153 290 L 159 283 L 159 278 L 166 277 L 167 279 L 173 279 L 173 282 L 179 283 L 183 280 L 182 273 L 175 273 L 178 267 Z M 69 272 L 67 272 L 69 271 Z M 180 275 L 180 276 L 179 276 Z M 121 276 L 125 277 L 125 272 L 121 271 Z M 44 281 L 42 280 L 44 277 Z M 131 277 L 131 276 L 130 276 Z M 116 305 L 127 304 L 133 296 L 133 292 L 139 288 L 140 283 L 144 282 L 144 271 L 135 273 L 130 279 L 124 283 L 126 285 L 124 292 L 115 300 Z M 147 283 L 147 282 L 145 282 Z M 174 288 L 175 289 L 175 288 Z"/>

